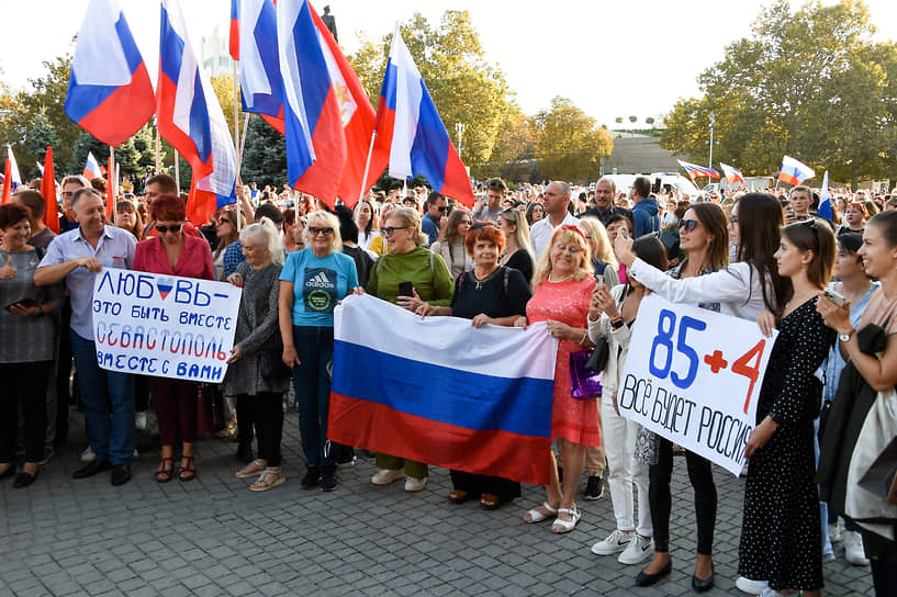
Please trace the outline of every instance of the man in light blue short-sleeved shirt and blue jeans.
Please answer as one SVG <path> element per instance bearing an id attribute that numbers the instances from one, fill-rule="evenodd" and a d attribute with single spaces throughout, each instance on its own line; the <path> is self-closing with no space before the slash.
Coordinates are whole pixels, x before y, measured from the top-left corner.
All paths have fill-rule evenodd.
<path id="1" fill-rule="evenodd" d="M 90 187 L 75 192 L 71 209 L 79 227 L 53 239 L 34 272 L 34 283 L 45 286 L 65 281 L 71 300 L 71 322 L 63 334 L 71 341 L 87 433 L 96 454 L 96 460 L 75 471 L 72 477 L 85 478 L 112 469 L 112 484 L 123 485 L 131 478 L 136 443 L 134 376 L 97 364 L 93 279 L 103 268 L 131 269 L 137 243 L 127 230 L 105 224 L 103 200 Z"/>

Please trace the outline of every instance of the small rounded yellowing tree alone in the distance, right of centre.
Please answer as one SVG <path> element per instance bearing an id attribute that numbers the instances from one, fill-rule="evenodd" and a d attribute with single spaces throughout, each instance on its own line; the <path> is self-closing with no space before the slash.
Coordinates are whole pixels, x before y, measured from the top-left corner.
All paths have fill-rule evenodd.
<path id="1" fill-rule="evenodd" d="M 542 174 L 575 182 L 598 177 L 601 158 L 610 156 L 614 140 L 595 119 L 558 97 L 551 100 L 551 110 L 539 112 L 535 121 Z"/>

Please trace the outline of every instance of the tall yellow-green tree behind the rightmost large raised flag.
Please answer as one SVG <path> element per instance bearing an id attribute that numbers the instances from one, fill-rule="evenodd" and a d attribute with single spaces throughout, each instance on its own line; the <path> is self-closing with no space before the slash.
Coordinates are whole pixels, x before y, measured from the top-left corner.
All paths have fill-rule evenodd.
<path id="1" fill-rule="evenodd" d="M 453 138 L 455 123 L 466 125 L 464 164 L 471 169 L 483 166 L 491 159 L 511 93 L 504 74 L 486 60 L 470 13 L 448 10 L 438 26 L 414 13 L 400 31 L 446 129 Z M 349 61 L 375 104 L 392 34 L 379 43 L 361 42 Z"/>

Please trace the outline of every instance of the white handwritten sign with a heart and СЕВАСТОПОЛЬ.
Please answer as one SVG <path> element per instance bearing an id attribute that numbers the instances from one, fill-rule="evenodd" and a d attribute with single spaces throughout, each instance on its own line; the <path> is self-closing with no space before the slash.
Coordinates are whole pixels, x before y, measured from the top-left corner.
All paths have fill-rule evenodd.
<path id="1" fill-rule="evenodd" d="M 93 283 L 97 362 L 110 371 L 220 383 L 240 289 L 105 268 Z"/>

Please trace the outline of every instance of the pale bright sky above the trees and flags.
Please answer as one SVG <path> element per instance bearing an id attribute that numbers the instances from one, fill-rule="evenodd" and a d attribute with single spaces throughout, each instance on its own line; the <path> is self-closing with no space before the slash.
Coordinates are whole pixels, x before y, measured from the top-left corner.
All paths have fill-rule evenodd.
<path id="1" fill-rule="evenodd" d="M 155 80 L 159 8 L 153 0 L 120 0 Z M 329 3 L 346 54 L 358 35 L 379 40 L 414 11 L 438 23 L 446 9 L 468 10 L 486 58 L 505 74 L 527 114 L 571 99 L 599 123 L 617 116 L 658 117 L 680 98 L 699 94 L 697 76 L 721 59 L 727 44 L 747 36 L 764 5 L 755 0 L 318 0 Z M 832 0 L 823 0 L 832 4 Z M 897 2 L 866 0 L 881 41 L 897 40 Z M 8 0 L 0 35 L 2 80 L 13 89 L 44 72 L 42 61 L 74 52 L 72 36 L 88 0 Z M 180 0 L 192 44 L 215 26 L 226 36 L 229 0 Z M 792 7 L 799 2 L 792 2 Z M 628 121 L 627 121 L 628 122 Z M 451 125 L 448 125 L 451 128 Z"/>

